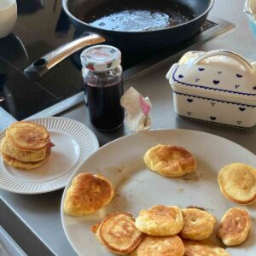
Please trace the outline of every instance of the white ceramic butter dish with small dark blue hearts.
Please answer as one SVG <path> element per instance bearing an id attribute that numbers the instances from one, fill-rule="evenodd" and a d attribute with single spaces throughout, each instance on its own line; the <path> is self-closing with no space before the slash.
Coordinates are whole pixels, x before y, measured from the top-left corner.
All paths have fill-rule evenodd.
<path id="1" fill-rule="evenodd" d="M 224 49 L 189 51 L 166 79 L 177 114 L 224 125 L 256 124 L 256 63 Z"/>

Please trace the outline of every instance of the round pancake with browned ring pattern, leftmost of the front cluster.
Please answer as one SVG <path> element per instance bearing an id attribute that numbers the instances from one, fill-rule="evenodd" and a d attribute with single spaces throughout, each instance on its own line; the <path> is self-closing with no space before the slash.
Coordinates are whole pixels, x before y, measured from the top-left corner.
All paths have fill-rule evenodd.
<path id="1" fill-rule="evenodd" d="M 115 212 L 102 220 L 96 236 L 112 253 L 131 253 L 142 241 L 143 233 L 137 230 L 129 212 Z"/>

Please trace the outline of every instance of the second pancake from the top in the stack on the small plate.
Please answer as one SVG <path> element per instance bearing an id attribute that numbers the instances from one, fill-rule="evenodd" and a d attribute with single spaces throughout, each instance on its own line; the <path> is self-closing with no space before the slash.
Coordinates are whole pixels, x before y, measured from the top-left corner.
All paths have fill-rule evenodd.
<path id="1" fill-rule="evenodd" d="M 3 154 L 22 162 L 38 162 L 44 160 L 47 155 L 47 148 L 48 146 L 37 151 L 21 151 L 15 148 L 9 137 L 4 137 L 0 146 Z"/>

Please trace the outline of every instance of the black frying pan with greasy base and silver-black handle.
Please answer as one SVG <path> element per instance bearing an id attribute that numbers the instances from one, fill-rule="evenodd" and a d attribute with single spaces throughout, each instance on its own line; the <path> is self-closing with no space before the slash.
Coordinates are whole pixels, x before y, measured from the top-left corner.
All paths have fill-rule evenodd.
<path id="1" fill-rule="evenodd" d="M 62 0 L 82 38 L 55 49 L 24 71 L 39 79 L 73 52 L 106 42 L 125 52 L 161 49 L 191 38 L 212 9 L 213 0 Z M 88 32 L 85 34 L 83 32 Z"/>

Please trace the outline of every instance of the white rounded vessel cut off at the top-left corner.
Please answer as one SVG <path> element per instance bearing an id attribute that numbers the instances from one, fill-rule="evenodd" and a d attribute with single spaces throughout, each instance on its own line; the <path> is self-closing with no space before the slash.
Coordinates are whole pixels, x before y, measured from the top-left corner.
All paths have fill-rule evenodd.
<path id="1" fill-rule="evenodd" d="M 17 3 L 15 0 L 0 0 L 0 38 L 11 33 L 17 20 Z"/>

